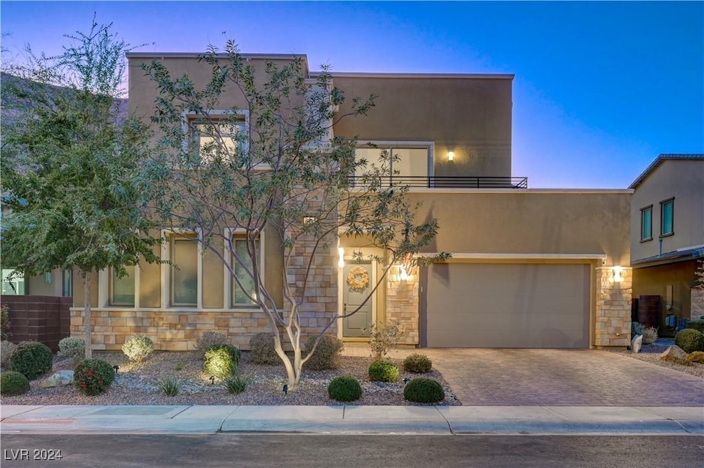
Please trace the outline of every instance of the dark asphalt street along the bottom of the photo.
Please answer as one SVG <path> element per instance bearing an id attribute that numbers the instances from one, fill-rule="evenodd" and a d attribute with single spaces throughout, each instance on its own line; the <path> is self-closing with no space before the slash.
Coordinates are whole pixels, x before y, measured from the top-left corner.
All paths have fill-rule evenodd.
<path id="1" fill-rule="evenodd" d="M 704 436 L 4 434 L 1 442 L 3 468 L 704 467 Z"/>

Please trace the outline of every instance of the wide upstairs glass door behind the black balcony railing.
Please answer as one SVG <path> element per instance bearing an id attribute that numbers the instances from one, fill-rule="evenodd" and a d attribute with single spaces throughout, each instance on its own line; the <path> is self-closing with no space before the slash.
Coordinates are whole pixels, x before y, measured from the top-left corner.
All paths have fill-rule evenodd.
<path id="1" fill-rule="evenodd" d="M 394 157 L 391 158 L 391 179 L 398 178 L 403 182 L 412 184 L 411 181 L 416 180 L 421 184 L 425 184 L 425 179 L 429 175 L 429 167 L 431 164 L 430 146 L 384 146 L 378 145 L 377 148 L 357 148 L 356 160 L 367 160 L 368 170 L 372 163 L 379 166 L 379 156 L 382 151 L 387 151 Z M 365 169 L 358 170 L 357 175 L 361 175 Z"/>

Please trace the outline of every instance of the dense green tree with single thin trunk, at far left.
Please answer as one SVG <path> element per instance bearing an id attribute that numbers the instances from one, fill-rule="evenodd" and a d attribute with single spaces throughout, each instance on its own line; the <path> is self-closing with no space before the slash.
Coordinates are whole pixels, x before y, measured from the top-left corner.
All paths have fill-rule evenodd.
<path id="1" fill-rule="evenodd" d="M 95 272 L 140 258 L 159 260 L 137 171 L 149 128 L 120 115 L 128 44 L 94 18 L 88 33 L 66 36 L 60 56 L 35 56 L 4 75 L 12 109 L 2 128 L 3 261 L 25 277 L 80 270 L 86 358 L 91 358 L 90 286 Z"/>

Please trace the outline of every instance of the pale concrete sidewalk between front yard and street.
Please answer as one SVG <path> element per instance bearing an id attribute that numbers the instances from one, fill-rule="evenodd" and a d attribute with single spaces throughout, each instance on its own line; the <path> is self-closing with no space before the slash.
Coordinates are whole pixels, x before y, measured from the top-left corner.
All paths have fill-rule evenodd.
<path id="1" fill-rule="evenodd" d="M 704 407 L 1 405 L 2 434 L 704 434 Z"/>

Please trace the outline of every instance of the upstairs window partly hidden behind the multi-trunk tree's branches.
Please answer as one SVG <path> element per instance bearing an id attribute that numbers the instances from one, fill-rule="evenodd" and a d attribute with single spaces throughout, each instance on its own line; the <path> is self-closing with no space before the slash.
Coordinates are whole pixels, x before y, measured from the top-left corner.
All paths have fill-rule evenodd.
<path id="1" fill-rule="evenodd" d="M 232 160 L 237 153 L 247 151 L 246 130 L 249 113 L 239 111 L 233 115 L 224 110 L 214 110 L 208 116 L 184 115 L 187 132 L 192 144 L 199 148 L 201 161 Z"/>

